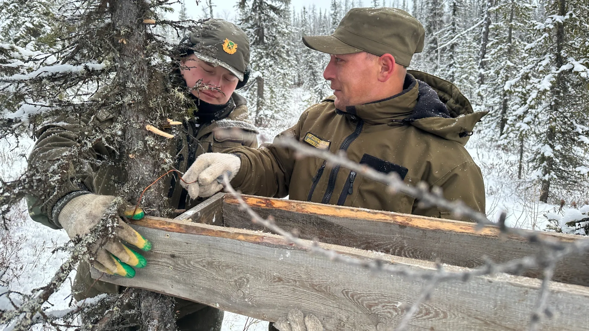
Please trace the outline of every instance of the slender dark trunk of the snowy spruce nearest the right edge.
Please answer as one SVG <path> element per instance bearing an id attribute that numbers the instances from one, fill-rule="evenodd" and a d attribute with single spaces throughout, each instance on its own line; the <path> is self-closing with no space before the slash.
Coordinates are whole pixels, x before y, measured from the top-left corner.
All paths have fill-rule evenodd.
<path id="1" fill-rule="evenodd" d="M 558 4 L 558 15 L 564 16 L 566 14 L 566 2 L 565 0 L 556 0 Z M 562 47 L 565 43 L 564 35 L 564 24 L 557 21 L 557 32 L 556 32 L 556 54 L 555 54 L 555 67 L 561 68 L 564 65 L 564 58 L 562 58 Z M 556 125 L 558 122 L 558 115 L 561 110 L 562 95 L 566 89 L 566 78 L 565 71 L 558 72 L 556 75 L 556 81 L 552 85 L 551 92 L 553 97 L 552 104 L 550 105 L 550 121 L 548 123 L 548 130 L 546 132 L 546 141 L 548 146 L 554 151 L 556 145 Z M 548 196 L 550 195 L 550 180 L 549 177 L 554 169 L 554 156 L 543 155 L 544 165 L 542 167 L 542 188 L 540 191 L 540 201 L 548 202 Z"/>

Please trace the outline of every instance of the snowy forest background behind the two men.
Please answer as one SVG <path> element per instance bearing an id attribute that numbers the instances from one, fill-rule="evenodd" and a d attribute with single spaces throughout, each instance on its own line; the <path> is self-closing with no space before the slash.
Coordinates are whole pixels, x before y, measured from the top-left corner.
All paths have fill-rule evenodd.
<path id="1" fill-rule="evenodd" d="M 48 36 L 65 3 L 0 0 L 0 50 L 18 49 L 22 55 L 20 63 L 0 62 L 0 70 L 22 67 L 28 58 L 59 47 Z M 216 16 L 247 32 L 252 76 L 238 92 L 249 101 L 260 141 L 272 141 L 306 107 L 331 94 L 322 75 L 329 57 L 306 48 L 301 37 L 331 34 L 345 12 L 359 6 L 395 6 L 418 18 L 426 31 L 425 47 L 410 69 L 454 82 L 475 110 L 489 111 L 466 146 L 485 178 L 489 219 L 505 210 L 509 226 L 589 234 L 586 0 L 332 0 L 329 10 L 293 9 L 282 0 L 241 0 L 231 17 L 214 12 L 214 0 L 206 0 L 198 12 L 180 3 L 179 11 L 164 10 L 161 18 Z M 180 40 L 174 31 L 161 34 Z M 8 90 L 6 81 L 0 85 Z M 6 107 L 9 99 L 0 102 L 2 118 L 21 120 L 28 129 L 34 124 L 28 117 L 42 111 L 31 102 L 12 112 Z M 34 143 L 30 132 L 18 143 L 14 137 L 0 140 L 3 183 L 24 171 Z M 0 230 L 0 292 L 30 292 L 47 283 L 65 259 L 65 253 L 52 249 L 68 238 L 30 220 L 24 203 L 11 213 L 17 221 Z M 54 294 L 55 309 L 67 307 L 69 293 L 65 284 Z M 0 297 L 0 309 L 5 307 L 9 303 Z M 231 314 L 225 322 L 224 330 L 253 323 Z M 254 328 L 264 326 L 254 322 Z"/>

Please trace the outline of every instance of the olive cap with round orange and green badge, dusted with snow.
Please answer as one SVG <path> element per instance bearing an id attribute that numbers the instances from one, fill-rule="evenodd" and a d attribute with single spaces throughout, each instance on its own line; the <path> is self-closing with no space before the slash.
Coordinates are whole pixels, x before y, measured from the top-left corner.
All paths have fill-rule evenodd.
<path id="1" fill-rule="evenodd" d="M 190 34 L 190 42 L 197 49 L 204 47 L 202 51 L 194 51 L 196 57 L 226 68 L 243 81 L 243 74 L 250 63 L 250 42 L 237 25 L 211 18 L 203 23 L 202 28 Z"/>

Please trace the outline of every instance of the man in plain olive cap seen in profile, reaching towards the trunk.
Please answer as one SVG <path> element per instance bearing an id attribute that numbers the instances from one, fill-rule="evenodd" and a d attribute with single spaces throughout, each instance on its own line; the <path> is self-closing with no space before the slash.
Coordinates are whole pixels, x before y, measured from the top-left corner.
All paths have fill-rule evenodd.
<path id="1" fill-rule="evenodd" d="M 474 112 L 451 82 L 406 69 L 422 51 L 424 37 L 421 23 L 396 8 L 353 8 L 332 35 L 303 37 L 307 47 L 330 55 L 323 77 L 333 95 L 307 108 L 276 139 L 346 153 L 352 161 L 396 173 L 407 185 L 439 187 L 446 199 L 485 213 L 481 170 L 464 145 L 487 112 Z M 388 193 L 385 184 L 355 171 L 297 157 L 278 144 L 201 155 L 186 173 L 198 180 L 188 193 L 216 193 L 222 188 L 217 177 L 224 173 L 245 194 L 469 221 L 406 194 Z M 299 315 L 289 314 L 287 322 L 317 329 L 306 319 L 299 323 Z M 282 331 L 288 325 L 276 323 Z"/>

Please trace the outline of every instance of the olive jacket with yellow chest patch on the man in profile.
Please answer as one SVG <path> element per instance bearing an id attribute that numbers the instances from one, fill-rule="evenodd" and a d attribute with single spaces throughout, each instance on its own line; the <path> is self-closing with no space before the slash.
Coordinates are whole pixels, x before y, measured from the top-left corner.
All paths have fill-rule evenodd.
<path id="1" fill-rule="evenodd" d="M 440 187 L 449 200 L 485 212 L 481 170 L 464 145 L 487 112 L 473 112 L 455 85 L 409 71 L 405 90 L 385 100 L 337 110 L 329 97 L 308 108 L 298 123 L 279 134 L 348 158 L 383 173 L 399 174 L 408 185 Z M 237 147 L 241 157 L 231 183 L 243 193 L 339 204 L 399 213 L 459 219 L 448 210 L 421 207 L 415 198 L 391 194 L 378 183 L 340 166 L 274 144 Z"/>

